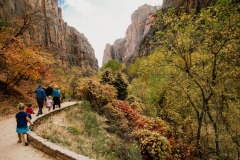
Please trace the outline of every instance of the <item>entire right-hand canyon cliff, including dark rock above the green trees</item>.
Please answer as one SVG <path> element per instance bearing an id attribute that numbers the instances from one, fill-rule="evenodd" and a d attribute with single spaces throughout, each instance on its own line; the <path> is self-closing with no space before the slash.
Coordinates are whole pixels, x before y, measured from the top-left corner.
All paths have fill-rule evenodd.
<path id="1" fill-rule="evenodd" d="M 124 64 L 133 63 L 136 58 L 144 57 L 150 54 L 150 41 L 154 40 L 156 32 L 152 26 L 155 13 L 161 10 L 167 10 L 170 7 L 177 8 L 177 12 L 190 12 L 196 9 L 212 5 L 216 0 L 163 0 L 163 5 L 153 7 L 143 5 L 131 16 L 131 24 L 126 31 L 124 39 L 116 40 L 113 45 L 107 44 L 103 55 L 103 65 L 109 60 L 117 60 Z M 154 47 L 154 46 L 153 46 Z"/>

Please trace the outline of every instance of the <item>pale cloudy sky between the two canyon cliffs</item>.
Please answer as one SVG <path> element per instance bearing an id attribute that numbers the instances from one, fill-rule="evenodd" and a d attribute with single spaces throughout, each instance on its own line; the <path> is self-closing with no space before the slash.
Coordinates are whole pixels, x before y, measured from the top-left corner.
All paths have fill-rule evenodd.
<path id="1" fill-rule="evenodd" d="M 125 37 L 131 15 L 138 7 L 162 5 L 162 0 L 65 0 L 63 19 L 92 45 L 99 67 L 107 43 Z"/>

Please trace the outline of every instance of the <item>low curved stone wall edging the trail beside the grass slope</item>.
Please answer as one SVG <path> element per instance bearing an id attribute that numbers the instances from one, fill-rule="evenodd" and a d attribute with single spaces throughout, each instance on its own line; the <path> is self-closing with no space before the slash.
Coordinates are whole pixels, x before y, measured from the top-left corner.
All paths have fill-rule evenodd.
<path id="1" fill-rule="evenodd" d="M 61 104 L 61 109 L 55 109 L 54 111 L 51 111 L 47 114 L 44 114 L 42 116 L 39 116 L 32 120 L 33 125 L 31 125 L 29 128 L 31 131 L 27 133 L 28 142 L 35 148 L 51 155 L 52 157 L 60 160 L 90 160 L 90 158 L 77 154 L 75 152 L 72 152 L 68 149 L 64 149 L 61 146 L 58 146 L 52 142 L 47 141 L 46 139 L 38 136 L 36 133 L 34 133 L 34 129 L 41 124 L 43 119 L 46 118 L 46 116 L 51 116 L 53 114 L 57 114 L 61 112 L 62 110 L 68 109 L 68 107 L 73 106 L 77 103 L 74 102 L 65 102 Z"/>

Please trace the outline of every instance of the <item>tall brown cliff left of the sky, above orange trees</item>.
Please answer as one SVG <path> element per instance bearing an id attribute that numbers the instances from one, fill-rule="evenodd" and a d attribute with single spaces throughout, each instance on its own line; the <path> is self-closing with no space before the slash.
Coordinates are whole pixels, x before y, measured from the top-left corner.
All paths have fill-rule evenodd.
<path id="1" fill-rule="evenodd" d="M 80 66 L 99 70 L 94 50 L 87 38 L 62 18 L 57 0 L 0 0 L 0 16 L 5 20 L 38 11 L 35 28 L 30 27 L 27 43 L 34 43 L 54 53 L 54 56 Z"/>

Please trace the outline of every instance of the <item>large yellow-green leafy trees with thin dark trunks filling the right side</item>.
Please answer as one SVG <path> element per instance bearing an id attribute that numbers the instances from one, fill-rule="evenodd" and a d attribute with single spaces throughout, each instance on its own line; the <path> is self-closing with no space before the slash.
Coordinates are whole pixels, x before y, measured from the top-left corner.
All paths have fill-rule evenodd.
<path id="1" fill-rule="evenodd" d="M 159 47 L 140 68 L 147 85 L 157 82 L 155 95 L 164 93 L 162 116 L 181 125 L 176 133 L 181 141 L 195 142 L 201 159 L 238 155 L 239 122 L 230 115 L 240 113 L 239 20 L 239 3 L 226 0 L 199 14 L 160 11 L 153 42 Z"/>

